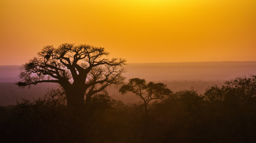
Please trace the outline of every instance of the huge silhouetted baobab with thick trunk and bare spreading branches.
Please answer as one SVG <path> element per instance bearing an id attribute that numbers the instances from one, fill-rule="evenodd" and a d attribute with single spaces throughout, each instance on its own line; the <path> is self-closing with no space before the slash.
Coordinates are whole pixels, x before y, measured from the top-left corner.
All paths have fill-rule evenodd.
<path id="1" fill-rule="evenodd" d="M 61 85 L 67 96 L 69 109 L 77 110 L 89 105 L 91 97 L 107 86 L 118 85 L 125 79 L 125 59 L 108 59 L 103 47 L 87 44 L 61 44 L 44 47 L 37 56 L 23 64 L 18 86 L 43 82 Z"/>

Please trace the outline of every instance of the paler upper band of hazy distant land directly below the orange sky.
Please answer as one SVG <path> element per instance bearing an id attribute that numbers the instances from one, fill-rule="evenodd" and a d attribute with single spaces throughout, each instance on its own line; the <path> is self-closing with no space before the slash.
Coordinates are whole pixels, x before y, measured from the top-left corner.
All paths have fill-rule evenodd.
<path id="1" fill-rule="evenodd" d="M 20 66 L 0 66 L 0 82 L 19 81 Z M 254 62 L 181 62 L 127 64 L 127 79 L 147 80 L 228 80 L 237 76 L 256 74 Z"/>

